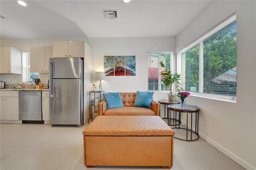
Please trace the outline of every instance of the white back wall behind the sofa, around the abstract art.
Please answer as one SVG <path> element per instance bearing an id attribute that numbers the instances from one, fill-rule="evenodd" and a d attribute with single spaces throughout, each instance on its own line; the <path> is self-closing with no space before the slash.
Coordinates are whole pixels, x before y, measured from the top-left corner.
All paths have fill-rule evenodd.
<path id="1" fill-rule="evenodd" d="M 104 70 L 106 55 L 136 56 L 136 76 L 106 76 L 106 80 L 102 81 L 105 92 L 136 92 L 148 90 L 148 50 L 174 50 L 175 38 L 90 38 L 90 44 L 93 49 L 94 75 Z M 93 84 L 98 87 L 100 81 L 94 79 Z M 167 99 L 167 93 L 155 92 L 153 98 L 156 101 Z"/>

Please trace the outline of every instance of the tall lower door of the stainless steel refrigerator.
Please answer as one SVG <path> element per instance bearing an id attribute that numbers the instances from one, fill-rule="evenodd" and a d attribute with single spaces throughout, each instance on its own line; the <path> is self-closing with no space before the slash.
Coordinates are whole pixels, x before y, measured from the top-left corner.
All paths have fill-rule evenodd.
<path id="1" fill-rule="evenodd" d="M 80 79 L 50 79 L 50 124 L 79 125 Z"/>

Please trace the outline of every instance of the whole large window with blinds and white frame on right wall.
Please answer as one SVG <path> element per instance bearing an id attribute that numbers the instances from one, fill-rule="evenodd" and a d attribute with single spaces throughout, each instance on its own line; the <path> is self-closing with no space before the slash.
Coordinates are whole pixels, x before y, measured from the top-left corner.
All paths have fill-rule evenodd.
<path id="1" fill-rule="evenodd" d="M 236 101 L 236 15 L 178 52 L 184 90 Z"/>

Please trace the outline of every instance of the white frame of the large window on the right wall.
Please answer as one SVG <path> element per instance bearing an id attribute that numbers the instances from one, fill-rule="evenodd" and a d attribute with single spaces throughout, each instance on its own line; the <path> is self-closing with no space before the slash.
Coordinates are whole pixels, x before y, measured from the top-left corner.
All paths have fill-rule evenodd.
<path id="1" fill-rule="evenodd" d="M 216 99 L 216 100 L 222 100 L 226 102 L 233 102 L 236 103 L 236 96 L 225 96 L 225 95 L 220 95 L 220 94 L 209 94 L 209 93 L 204 93 L 203 92 L 203 75 L 204 75 L 204 70 L 203 70 L 203 59 L 204 59 L 204 54 L 203 54 L 203 41 L 210 37 L 212 34 L 218 32 L 228 24 L 231 24 L 236 20 L 236 13 L 232 14 L 228 18 L 226 18 L 224 21 L 220 22 L 220 24 L 214 26 L 214 28 L 210 29 L 208 32 L 191 42 L 189 45 L 187 45 L 185 48 L 177 52 L 177 72 L 178 74 L 181 74 L 181 68 L 182 68 L 182 62 L 181 62 L 181 55 L 183 52 L 186 52 L 196 44 L 199 44 L 199 90 L 198 92 L 190 92 L 190 95 L 192 96 L 198 96 L 198 97 L 203 97 L 203 98 L 210 98 L 210 99 Z M 181 74 L 182 77 L 182 74 Z"/>

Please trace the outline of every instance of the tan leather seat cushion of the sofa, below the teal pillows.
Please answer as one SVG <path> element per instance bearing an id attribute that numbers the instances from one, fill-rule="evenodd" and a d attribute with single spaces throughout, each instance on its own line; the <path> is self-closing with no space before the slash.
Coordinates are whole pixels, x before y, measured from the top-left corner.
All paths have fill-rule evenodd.
<path id="1" fill-rule="evenodd" d="M 111 108 L 104 112 L 104 115 L 116 116 L 154 116 L 155 112 L 150 108 L 126 106 L 122 108 Z"/>

